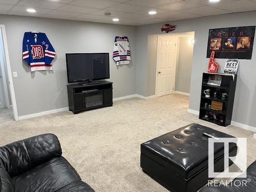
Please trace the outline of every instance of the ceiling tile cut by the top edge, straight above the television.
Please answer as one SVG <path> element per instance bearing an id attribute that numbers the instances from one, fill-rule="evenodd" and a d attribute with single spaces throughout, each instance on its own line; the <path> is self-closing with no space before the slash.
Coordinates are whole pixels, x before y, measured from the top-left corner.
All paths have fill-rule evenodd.
<path id="1" fill-rule="evenodd" d="M 70 4 L 78 5 L 78 6 L 92 7 L 92 8 L 97 8 L 97 9 L 104 9 L 107 7 L 118 5 L 120 3 L 112 2 L 112 1 L 105 1 L 105 0 L 76 0 Z"/>

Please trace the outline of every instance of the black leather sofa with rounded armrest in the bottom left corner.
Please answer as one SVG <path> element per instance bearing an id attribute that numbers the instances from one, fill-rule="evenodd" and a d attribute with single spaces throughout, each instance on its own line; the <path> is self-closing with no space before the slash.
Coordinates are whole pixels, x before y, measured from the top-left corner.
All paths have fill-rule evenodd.
<path id="1" fill-rule="evenodd" d="M 0 191 L 93 192 L 61 154 L 59 140 L 53 134 L 0 147 Z"/>

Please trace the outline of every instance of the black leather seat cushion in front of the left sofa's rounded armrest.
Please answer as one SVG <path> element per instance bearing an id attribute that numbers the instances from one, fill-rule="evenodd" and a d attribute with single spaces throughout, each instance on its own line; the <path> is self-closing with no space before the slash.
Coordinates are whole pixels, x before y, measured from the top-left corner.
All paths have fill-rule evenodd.
<path id="1" fill-rule="evenodd" d="M 19 192 L 51 192 L 78 180 L 80 177 L 76 170 L 61 156 L 13 177 L 12 183 L 15 191 Z"/>

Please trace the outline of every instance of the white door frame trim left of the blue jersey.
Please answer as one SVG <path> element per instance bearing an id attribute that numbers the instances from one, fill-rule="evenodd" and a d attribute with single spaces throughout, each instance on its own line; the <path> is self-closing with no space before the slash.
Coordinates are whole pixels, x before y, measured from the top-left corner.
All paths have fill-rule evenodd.
<path id="1" fill-rule="evenodd" d="M 9 88 L 10 88 L 11 101 L 12 101 L 13 119 L 18 120 L 18 111 L 17 111 L 17 104 L 16 104 L 16 98 L 15 98 L 15 92 L 14 92 L 14 86 L 13 86 L 13 80 L 12 80 L 12 71 L 11 71 L 10 57 L 9 57 L 8 46 L 7 46 L 7 36 L 6 36 L 5 25 L 0 25 L 0 28 L 2 31 L 2 38 L 3 38 L 3 44 L 4 44 L 7 76 L 9 80 Z M 5 65 L 5 63 L 3 64 Z"/>

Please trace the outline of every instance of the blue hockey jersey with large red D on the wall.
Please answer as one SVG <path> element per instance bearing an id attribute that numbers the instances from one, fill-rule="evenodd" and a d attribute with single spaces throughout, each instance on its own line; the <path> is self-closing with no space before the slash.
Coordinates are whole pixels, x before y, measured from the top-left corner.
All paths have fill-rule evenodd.
<path id="1" fill-rule="evenodd" d="M 32 71 L 52 70 L 52 60 L 56 56 L 45 33 L 25 32 L 23 38 L 23 59 Z"/>

